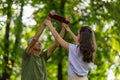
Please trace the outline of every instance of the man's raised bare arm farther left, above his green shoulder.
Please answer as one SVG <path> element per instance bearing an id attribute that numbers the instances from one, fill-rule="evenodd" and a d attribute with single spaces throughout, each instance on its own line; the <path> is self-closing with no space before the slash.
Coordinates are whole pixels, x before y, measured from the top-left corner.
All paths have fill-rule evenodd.
<path id="1" fill-rule="evenodd" d="M 44 31 L 44 28 L 45 28 L 45 24 L 43 23 L 43 24 L 39 27 L 39 29 L 38 29 L 38 31 L 36 32 L 36 34 L 34 35 L 33 40 L 31 41 L 31 43 L 28 45 L 28 47 L 27 47 L 27 49 L 26 49 L 26 53 L 27 53 L 27 54 L 30 54 L 30 53 L 31 53 L 31 51 L 32 51 L 32 49 L 33 49 L 36 41 L 38 41 L 40 35 L 41 35 L 42 32 Z"/>

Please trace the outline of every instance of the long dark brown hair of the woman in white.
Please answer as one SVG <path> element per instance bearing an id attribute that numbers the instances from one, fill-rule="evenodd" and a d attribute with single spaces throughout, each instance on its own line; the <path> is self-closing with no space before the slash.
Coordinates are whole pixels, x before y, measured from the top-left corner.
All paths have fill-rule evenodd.
<path id="1" fill-rule="evenodd" d="M 83 61 L 94 62 L 96 40 L 94 32 L 88 26 L 82 26 L 79 32 L 79 50 L 83 54 Z"/>

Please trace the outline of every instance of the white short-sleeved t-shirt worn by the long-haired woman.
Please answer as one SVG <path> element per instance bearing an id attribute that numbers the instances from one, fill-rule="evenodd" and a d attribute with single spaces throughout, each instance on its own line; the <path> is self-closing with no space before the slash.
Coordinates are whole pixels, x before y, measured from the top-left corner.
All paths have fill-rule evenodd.
<path id="1" fill-rule="evenodd" d="M 69 44 L 68 54 L 68 75 L 87 76 L 90 64 L 83 61 L 83 55 L 79 52 L 79 47 Z"/>

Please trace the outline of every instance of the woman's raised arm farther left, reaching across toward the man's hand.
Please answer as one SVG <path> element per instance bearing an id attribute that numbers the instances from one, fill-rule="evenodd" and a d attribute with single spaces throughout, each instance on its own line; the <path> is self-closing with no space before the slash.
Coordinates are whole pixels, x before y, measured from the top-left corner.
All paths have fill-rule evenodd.
<path id="1" fill-rule="evenodd" d="M 54 29 L 53 25 L 51 24 L 51 21 L 49 19 L 46 19 L 45 24 L 49 27 L 49 29 L 51 30 L 52 35 L 54 36 L 55 40 L 57 40 L 57 42 L 66 50 L 68 50 L 69 47 L 69 43 L 66 42 L 65 40 L 63 40 L 61 38 L 61 36 L 58 34 L 58 32 Z"/>

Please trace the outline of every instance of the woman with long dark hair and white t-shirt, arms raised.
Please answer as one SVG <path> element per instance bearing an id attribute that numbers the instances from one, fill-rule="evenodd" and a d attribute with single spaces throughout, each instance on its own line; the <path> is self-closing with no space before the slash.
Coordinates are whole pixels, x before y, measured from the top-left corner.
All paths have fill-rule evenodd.
<path id="1" fill-rule="evenodd" d="M 57 40 L 57 42 L 69 52 L 68 80 L 88 80 L 87 74 L 90 65 L 94 63 L 94 56 L 97 47 L 93 30 L 88 26 L 82 26 L 78 36 L 75 36 L 67 24 L 63 23 L 65 29 L 76 42 L 76 44 L 71 44 L 60 37 L 51 24 L 50 19 L 46 20 L 46 25 L 51 30 L 55 40 Z"/>

